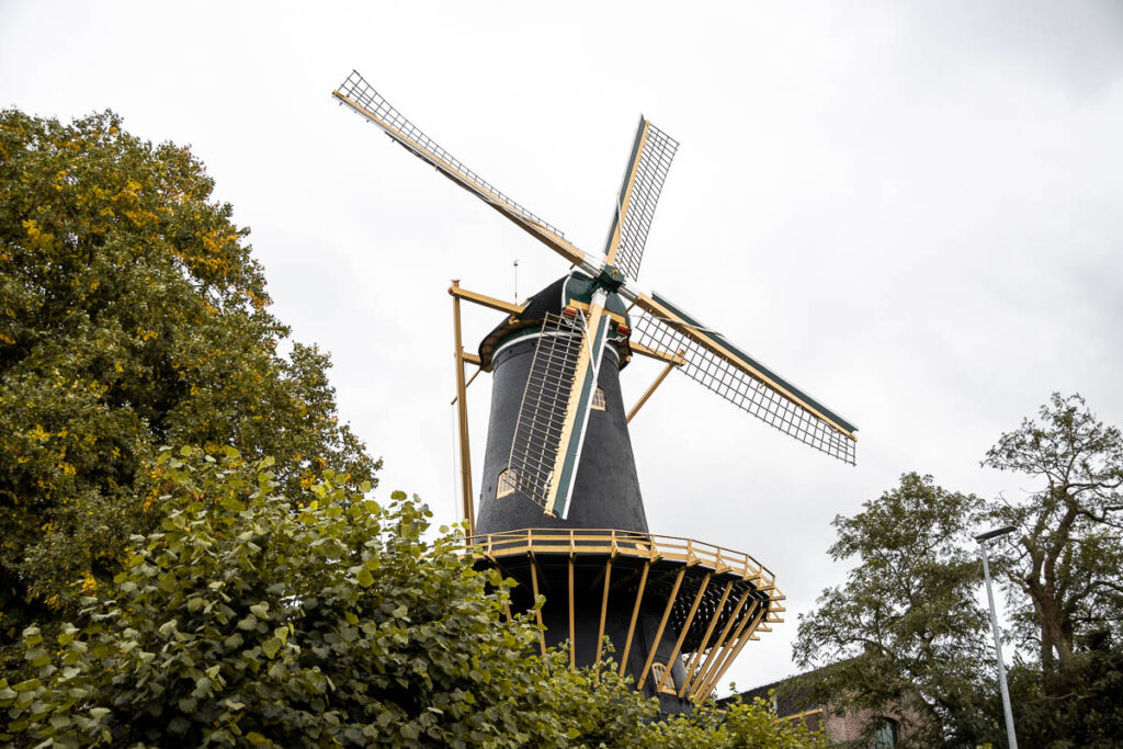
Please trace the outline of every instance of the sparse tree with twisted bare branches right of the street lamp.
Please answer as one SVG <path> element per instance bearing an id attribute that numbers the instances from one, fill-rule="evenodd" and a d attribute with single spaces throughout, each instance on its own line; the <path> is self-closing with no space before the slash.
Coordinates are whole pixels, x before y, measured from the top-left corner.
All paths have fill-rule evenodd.
<path id="1" fill-rule="evenodd" d="M 996 546 L 995 566 L 1026 596 L 1011 604 L 1049 676 L 1071 663 L 1081 632 L 1120 632 L 1123 433 L 1079 395 L 1053 393 L 1037 420 L 1002 435 L 983 465 L 1039 484 L 1024 497 L 990 503 L 984 517 L 1019 529 Z"/>

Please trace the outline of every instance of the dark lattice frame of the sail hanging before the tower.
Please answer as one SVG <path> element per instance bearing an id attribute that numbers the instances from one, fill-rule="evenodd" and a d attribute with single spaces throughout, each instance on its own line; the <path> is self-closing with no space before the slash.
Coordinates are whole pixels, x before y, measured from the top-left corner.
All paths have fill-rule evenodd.
<path id="1" fill-rule="evenodd" d="M 522 391 L 508 466 L 519 492 L 544 510 L 549 509 L 550 481 L 584 340 L 583 317 L 548 312 Z"/>

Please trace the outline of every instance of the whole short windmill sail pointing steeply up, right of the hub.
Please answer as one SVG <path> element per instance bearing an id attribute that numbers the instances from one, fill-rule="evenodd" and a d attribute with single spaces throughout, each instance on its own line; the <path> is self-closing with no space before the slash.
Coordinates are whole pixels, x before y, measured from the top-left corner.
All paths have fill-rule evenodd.
<path id="1" fill-rule="evenodd" d="M 647 232 L 677 149 L 677 140 L 640 118 L 604 247 L 608 262 L 632 281 L 639 275 Z"/>

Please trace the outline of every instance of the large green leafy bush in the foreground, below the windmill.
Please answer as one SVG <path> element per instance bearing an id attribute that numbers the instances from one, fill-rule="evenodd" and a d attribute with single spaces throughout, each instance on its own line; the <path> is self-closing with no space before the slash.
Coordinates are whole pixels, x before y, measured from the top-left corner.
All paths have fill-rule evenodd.
<path id="1" fill-rule="evenodd" d="M 658 702 L 611 661 L 537 656 L 533 614 L 505 614 L 514 583 L 476 570 L 459 533 L 427 541 L 429 512 L 404 494 L 377 503 L 328 471 L 285 496 L 270 460 L 232 448 L 165 451 L 155 473 L 162 527 L 83 599 L 84 622 L 57 645 L 25 631 L 36 674 L 0 679 L 0 740 L 825 746 L 760 703 L 655 723 Z"/>

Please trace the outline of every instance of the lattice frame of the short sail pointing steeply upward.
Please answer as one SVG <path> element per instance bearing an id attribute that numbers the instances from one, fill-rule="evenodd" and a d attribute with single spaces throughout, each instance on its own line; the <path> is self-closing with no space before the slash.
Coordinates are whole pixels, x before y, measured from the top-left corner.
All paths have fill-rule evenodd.
<path id="1" fill-rule="evenodd" d="M 646 134 L 643 134 L 646 124 Z M 670 162 L 678 150 L 678 141 L 668 136 L 647 120 L 640 120 L 643 147 L 636 166 L 634 180 L 628 205 L 624 210 L 620 228 L 620 246 L 617 250 L 617 266 L 631 280 L 639 276 L 640 261 L 643 259 L 643 247 L 647 245 L 647 234 L 651 229 L 655 208 L 663 192 L 663 183 L 670 171 Z M 624 176 L 623 193 L 628 188 L 629 176 Z M 621 199 L 622 200 L 622 197 Z M 617 211 L 621 210 L 620 200 Z"/>

